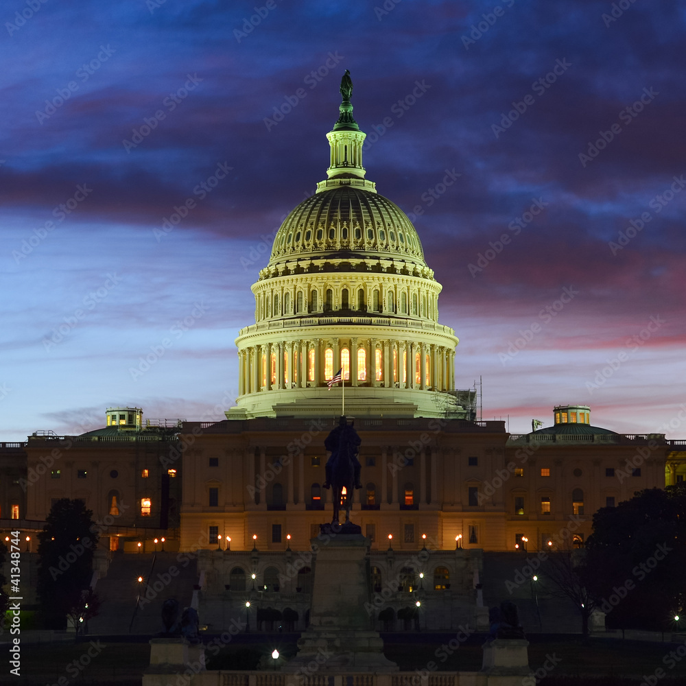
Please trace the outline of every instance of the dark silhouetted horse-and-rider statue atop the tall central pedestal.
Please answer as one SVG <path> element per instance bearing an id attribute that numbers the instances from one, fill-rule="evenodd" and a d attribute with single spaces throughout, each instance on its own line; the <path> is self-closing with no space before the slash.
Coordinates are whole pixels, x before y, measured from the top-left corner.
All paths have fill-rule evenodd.
<path id="1" fill-rule="evenodd" d="M 324 441 L 324 446 L 331 451 L 326 466 L 327 481 L 324 483 L 324 488 L 333 488 L 331 523 L 339 522 L 341 508 L 345 510 L 345 521 L 350 521 L 353 492 L 355 488 L 362 488 L 359 484 L 360 464 L 357 460 L 360 442 L 352 422 L 348 425 L 345 417 L 340 418 L 338 426 Z"/>

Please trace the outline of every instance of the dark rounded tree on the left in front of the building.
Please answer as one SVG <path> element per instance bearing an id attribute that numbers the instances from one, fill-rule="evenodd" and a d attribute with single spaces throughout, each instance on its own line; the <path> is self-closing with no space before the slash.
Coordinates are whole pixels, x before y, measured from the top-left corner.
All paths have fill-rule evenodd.
<path id="1" fill-rule="evenodd" d="M 47 628 L 62 629 L 88 591 L 97 534 L 92 510 L 81 500 L 62 498 L 52 506 L 38 534 L 38 599 Z"/>

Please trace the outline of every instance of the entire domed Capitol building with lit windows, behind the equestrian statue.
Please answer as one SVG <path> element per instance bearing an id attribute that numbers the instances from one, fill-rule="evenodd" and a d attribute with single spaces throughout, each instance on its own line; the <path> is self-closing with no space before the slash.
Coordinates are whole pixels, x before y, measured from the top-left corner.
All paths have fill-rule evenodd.
<path id="1" fill-rule="evenodd" d="M 484 554 L 578 547 L 599 508 L 683 481 L 685 440 L 596 427 L 587 405 L 551 408 L 549 427 L 522 435 L 477 418 L 475 391 L 456 389 L 441 285 L 410 220 L 366 178 L 366 134 L 342 93 L 326 178 L 252 285 L 226 420 L 112 407 L 81 436 L 3 443 L 3 529 L 37 532 L 56 499 L 81 498 L 104 523 L 103 580 L 112 560 L 164 547 L 197 560 L 204 621 L 226 626 L 253 598 L 265 625 L 302 628 L 331 519 L 324 438 L 344 394 L 362 439 L 351 519 L 369 540 L 370 617 L 449 628 L 487 621 Z M 416 598 L 431 608 L 421 619 Z"/>

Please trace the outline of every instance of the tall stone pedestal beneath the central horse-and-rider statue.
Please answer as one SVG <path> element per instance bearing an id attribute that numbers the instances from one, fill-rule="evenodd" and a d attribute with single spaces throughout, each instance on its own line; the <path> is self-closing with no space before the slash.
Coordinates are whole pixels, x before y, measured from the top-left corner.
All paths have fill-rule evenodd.
<path id="1" fill-rule="evenodd" d="M 392 672 L 395 663 L 383 655 L 383 641 L 372 630 L 366 554 L 362 534 L 327 532 L 312 539 L 317 552 L 310 624 L 298 641 L 298 654 L 284 672 L 341 674 Z"/>

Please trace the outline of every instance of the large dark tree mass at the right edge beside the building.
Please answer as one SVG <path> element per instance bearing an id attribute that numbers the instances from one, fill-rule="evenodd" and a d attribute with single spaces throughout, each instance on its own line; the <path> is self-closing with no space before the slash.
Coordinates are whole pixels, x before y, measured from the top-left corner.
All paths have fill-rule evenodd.
<path id="1" fill-rule="evenodd" d="M 686 602 L 686 485 L 642 490 L 598 510 L 587 554 L 608 626 L 670 628 Z"/>

